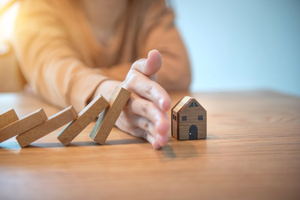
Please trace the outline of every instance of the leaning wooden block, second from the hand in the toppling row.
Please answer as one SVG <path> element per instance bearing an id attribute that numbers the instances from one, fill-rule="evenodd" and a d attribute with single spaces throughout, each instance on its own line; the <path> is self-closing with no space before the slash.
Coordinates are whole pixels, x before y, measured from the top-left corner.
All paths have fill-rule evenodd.
<path id="1" fill-rule="evenodd" d="M 89 125 L 97 116 L 109 106 L 108 101 L 100 94 L 87 105 L 79 114 L 76 120 L 62 130 L 57 139 L 65 146 L 85 128 Z"/>

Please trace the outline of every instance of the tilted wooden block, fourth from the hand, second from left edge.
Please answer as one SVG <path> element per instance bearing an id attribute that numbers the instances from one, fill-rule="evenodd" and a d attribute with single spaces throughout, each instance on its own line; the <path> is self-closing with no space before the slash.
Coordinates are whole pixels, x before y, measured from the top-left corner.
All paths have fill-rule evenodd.
<path id="1" fill-rule="evenodd" d="M 47 120 L 45 111 L 41 108 L 22 119 L 0 129 L 0 143 L 40 125 Z"/>

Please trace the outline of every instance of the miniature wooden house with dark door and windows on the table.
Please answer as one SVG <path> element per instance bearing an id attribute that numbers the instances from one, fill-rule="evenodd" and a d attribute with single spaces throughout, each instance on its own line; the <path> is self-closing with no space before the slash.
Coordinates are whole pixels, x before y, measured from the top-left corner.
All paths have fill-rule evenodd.
<path id="1" fill-rule="evenodd" d="M 171 111 L 172 136 L 177 140 L 206 138 L 206 110 L 192 97 L 186 96 Z"/>

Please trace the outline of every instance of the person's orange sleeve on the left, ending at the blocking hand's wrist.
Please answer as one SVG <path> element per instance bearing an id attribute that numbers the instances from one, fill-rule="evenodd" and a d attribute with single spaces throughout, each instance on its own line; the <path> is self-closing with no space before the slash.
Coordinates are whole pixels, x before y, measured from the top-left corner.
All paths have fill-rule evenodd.
<path id="1" fill-rule="evenodd" d="M 22 1 L 14 49 L 35 94 L 60 107 L 73 105 L 79 112 L 108 78 L 86 66 L 51 3 Z"/>

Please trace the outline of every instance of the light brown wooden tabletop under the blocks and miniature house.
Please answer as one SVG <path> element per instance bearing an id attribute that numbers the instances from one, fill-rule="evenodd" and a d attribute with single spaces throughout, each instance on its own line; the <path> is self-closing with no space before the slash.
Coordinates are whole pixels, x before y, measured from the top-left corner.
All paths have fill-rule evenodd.
<path id="1" fill-rule="evenodd" d="M 171 93 L 196 97 L 208 113 L 206 140 L 154 150 L 114 128 L 106 145 L 69 147 L 62 129 L 21 149 L 0 144 L 0 199 L 300 199 L 300 98 L 271 91 Z M 60 109 L 24 93 L 0 94 L 0 113 Z"/>

